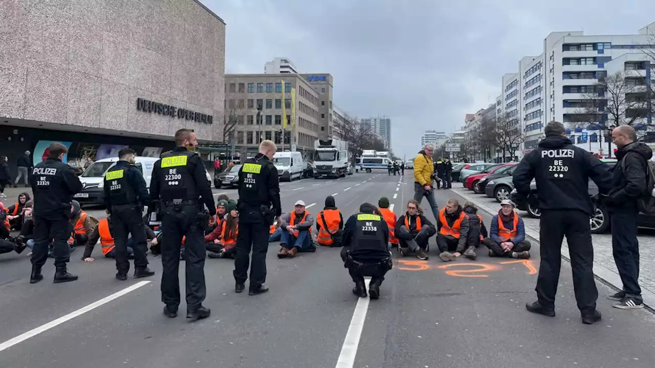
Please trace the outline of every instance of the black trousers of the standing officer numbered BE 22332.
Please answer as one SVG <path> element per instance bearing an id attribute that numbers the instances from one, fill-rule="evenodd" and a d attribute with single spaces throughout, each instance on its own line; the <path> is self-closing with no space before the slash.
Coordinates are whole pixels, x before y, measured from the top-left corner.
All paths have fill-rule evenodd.
<path id="1" fill-rule="evenodd" d="M 132 235 L 134 242 L 134 268 L 142 269 L 148 266 L 145 253 L 148 243 L 145 238 L 145 224 L 141 215 L 141 208 L 136 204 L 121 204 L 111 206 L 111 235 L 114 238 L 116 269 L 119 274 L 127 274 L 130 262 L 127 260 L 128 234 Z"/>

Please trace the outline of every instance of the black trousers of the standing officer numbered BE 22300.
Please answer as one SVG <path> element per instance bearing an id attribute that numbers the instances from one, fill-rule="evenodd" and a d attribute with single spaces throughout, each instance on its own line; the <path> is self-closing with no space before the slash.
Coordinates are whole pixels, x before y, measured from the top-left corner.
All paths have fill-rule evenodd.
<path id="1" fill-rule="evenodd" d="M 204 278 L 204 230 L 200 221 L 204 221 L 198 206 L 181 206 L 179 211 L 174 206 L 164 208 L 162 219 L 162 302 L 170 308 L 179 306 L 179 251 L 182 236 L 186 236 L 185 273 L 187 310 L 194 311 L 205 299 Z"/>

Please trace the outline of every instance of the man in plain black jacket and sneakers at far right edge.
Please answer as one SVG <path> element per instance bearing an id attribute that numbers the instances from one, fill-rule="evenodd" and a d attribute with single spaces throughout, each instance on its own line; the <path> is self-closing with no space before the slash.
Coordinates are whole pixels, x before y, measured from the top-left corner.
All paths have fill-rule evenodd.
<path id="1" fill-rule="evenodd" d="M 639 287 L 639 242 L 637 241 L 637 200 L 645 193 L 648 183 L 648 160 L 652 149 L 637 142 L 631 126 L 622 125 L 612 130 L 612 141 L 618 147 L 614 166 L 612 190 L 606 199 L 612 228 L 612 255 L 623 282 L 623 290 L 608 299 L 618 301 L 614 308 L 643 308 Z"/>

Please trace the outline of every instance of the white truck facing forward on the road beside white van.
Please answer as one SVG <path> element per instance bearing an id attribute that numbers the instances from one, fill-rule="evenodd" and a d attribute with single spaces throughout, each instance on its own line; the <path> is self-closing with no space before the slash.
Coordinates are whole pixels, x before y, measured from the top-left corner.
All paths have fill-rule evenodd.
<path id="1" fill-rule="evenodd" d="M 348 142 L 319 139 L 314 143 L 314 179 L 322 176 L 345 177 L 348 174 L 348 166 Z"/>

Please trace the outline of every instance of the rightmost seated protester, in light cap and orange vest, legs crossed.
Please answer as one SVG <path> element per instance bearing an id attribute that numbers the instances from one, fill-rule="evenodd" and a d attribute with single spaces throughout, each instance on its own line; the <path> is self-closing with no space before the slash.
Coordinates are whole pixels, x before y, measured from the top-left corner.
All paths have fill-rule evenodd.
<path id="1" fill-rule="evenodd" d="M 491 219 L 489 238 L 482 244 L 489 248 L 489 257 L 530 258 L 531 244 L 525 240 L 525 225 L 511 200 L 500 202 L 500 211 Z"/>

